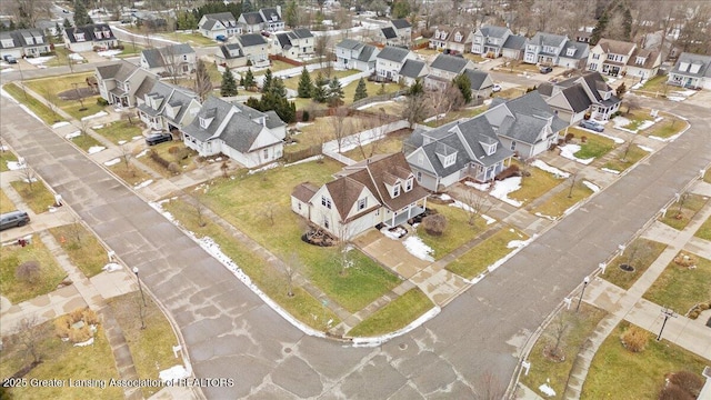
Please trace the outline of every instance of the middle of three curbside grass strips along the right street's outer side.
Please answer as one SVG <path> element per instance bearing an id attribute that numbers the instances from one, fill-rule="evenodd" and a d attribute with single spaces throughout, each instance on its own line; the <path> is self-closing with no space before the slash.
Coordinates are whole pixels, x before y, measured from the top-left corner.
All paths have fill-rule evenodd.
<path id="1" fill-rule="evenodd" d="M 610 261 L 602 278 L 624 290 L 630 289 L 665 248 L 667 244 L 664 243 L 637 238 L 624 249 L 622 256 L 618 256 Z M 620 269 L 620 264 L 623 263 L 634 267 L 634 271 L 628 272 Z"/>

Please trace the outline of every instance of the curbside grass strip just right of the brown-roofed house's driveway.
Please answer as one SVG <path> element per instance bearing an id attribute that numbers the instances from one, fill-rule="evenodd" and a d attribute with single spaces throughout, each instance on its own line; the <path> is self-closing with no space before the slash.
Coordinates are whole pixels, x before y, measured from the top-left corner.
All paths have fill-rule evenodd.
<path id="1" fill-rule="evenodd" d="M 513 248 L 508 247 L 509 242 L 528 238 L 527 234 L 517 232 L 513 228 L 503 228 L 450 262 L 447 269 L 460 277 L 472 279 L 513 251 Z"/>

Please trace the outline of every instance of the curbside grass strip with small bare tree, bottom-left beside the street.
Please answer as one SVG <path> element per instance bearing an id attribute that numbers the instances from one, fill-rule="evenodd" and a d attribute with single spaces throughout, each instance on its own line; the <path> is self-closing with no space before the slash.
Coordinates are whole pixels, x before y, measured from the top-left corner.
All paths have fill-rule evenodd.
<path id="1" fill-rule="evenodd" d="M 141 294 L 133 291 L 107 301 L 113 317 L 123 331 L 131 351 L 139 379 L 158 379 L 158 373 L 182 362 L 173 356 L 172 347 L 178 344 L 170 322 L 156 303 L 146 297 L 146 329 L 141 329 L 138 310 L 143 307 Z M 157 393 L 161 388 L 142 387 L 144 398 Z"/>

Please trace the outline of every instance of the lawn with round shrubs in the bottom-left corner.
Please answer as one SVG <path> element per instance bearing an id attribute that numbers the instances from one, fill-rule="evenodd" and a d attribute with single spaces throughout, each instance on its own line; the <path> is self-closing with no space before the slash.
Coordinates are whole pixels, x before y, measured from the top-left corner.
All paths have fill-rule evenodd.
<path id="1" fill-rule="evenodd" d="M 42 357 L 42 363 L 33 368 L 23 378 L 27 387 L 16 387 L 0 390 L 3 399 L 123 399 L 120 387 L 111 387 L 111 379 L 119 379 L 119 372 L 113 362 L 113 353 L 106 338 L 103 327 L 99 326 L 94 334 L 93 344 L 74 347 L 71 342 L 63 342 L 57 337 L 53 321 L 44 322 L 26 331 L 26 337 L 34 338 L 34 343 Z M 0 377 L 9 378 L 21 368 L 32 362 L 32 356 L 18 336 L 3 338 L 3 349 L 0 352 Z M 87 380 L 100 379 L 107 381 L 101 388 L 69 387 L 67 379 Z M 63 380 L 63 387 L 31 386 L 37 380 Z M 4 391 L 4 393 L 3 393 Z"/>

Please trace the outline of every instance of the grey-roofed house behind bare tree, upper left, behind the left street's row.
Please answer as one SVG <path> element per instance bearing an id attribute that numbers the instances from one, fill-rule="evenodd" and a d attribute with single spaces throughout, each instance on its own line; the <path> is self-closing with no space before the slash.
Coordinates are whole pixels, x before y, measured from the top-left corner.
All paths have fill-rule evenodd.
<path id="1" fill-rule="evenodd" d="M 170 44 L 141 51 L 141 68 L 168 77 L 189 74 L 196 69 L 198 58 L 190 44 Z"/>

